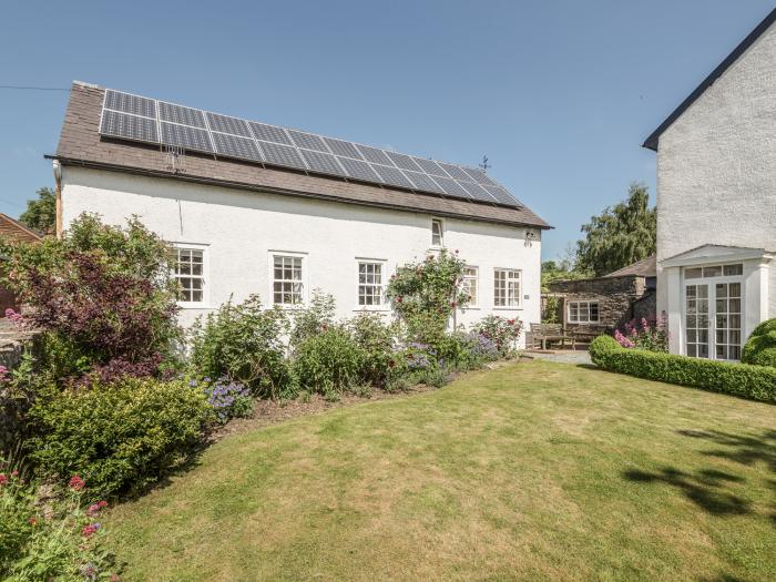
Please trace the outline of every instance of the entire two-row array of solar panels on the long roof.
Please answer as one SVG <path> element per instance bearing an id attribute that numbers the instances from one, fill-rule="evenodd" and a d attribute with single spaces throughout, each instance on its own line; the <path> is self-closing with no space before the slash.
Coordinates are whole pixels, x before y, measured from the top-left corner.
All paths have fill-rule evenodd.
<path id="1" fill-rule="evenodd" d="M 286 130 L 111 89 L 105 90 L 100 133 L 418 192 L 522 206 L 479 169 Z"/>

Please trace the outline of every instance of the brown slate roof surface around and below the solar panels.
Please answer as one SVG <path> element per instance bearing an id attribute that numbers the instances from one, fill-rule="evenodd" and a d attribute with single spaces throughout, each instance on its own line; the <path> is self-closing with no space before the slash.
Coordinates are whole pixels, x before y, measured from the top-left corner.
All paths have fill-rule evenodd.
<path id="1" fill-rule="evenodd" d="M 109 140 L 99 133 L 104 89 L 74 82 L 54 156 L 63 165 L 129 172 L 227 187 L 313 197 L 366 206 L 423 212 L 438 216 L 551 228 L 528 207 L 510 208 L 186 153 L 185 173 L 170 167 L 159 146 Z"/>

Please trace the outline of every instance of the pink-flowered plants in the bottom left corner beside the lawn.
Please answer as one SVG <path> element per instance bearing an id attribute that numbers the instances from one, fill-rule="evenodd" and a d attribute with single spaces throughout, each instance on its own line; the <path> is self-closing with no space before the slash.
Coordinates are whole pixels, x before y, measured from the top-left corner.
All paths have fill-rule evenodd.
<path id="1" fill-rule="evenodd" d="M 0 579 L 118 581 L 99 521 L 108 503 L 86 506 L 85 483 L 78 476 L 45 500 L 38 498 L 39 487 L 0 458 Z"/>

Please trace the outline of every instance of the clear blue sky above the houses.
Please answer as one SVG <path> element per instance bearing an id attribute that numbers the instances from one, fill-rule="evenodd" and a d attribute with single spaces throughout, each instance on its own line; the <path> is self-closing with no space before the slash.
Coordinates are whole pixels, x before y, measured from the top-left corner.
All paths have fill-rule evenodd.
<path id="1" fill-rule="evenodd" d="M 477 164 L 555 226 L 644 182 L 640 144 L 774 0 L 4 2 L 0 84 L 73 79 Z M 0 89 L 0 212 L 52 185 L 61 91 Z"/>

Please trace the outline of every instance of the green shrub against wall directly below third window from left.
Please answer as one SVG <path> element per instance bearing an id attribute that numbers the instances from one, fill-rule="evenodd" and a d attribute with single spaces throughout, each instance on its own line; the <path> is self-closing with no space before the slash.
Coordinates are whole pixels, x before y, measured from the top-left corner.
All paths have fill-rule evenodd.
<path id="1" fill-rule="evenodd" d="M 348 321 L 348 329 L 361 351 L 358 372 L 361 384 L 382 388 L 401 374 L 401 358 L 395 353 L 394 329 L 382 321 L 379 314 L 360 313 Z"/>

